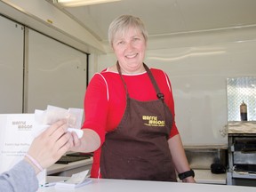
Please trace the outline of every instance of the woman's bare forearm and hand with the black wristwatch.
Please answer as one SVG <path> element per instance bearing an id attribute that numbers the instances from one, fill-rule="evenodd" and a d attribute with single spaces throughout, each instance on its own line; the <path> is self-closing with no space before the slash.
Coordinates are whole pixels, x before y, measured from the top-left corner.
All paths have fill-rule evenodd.
<path id="1" fill-rule="evenodd" d="M 176 171 L 178 173 L 187 172 L 190 170 L 187 156 L 185 154 L 184 148 L 182 146 L 182 142 L 180 139 L 180 134 L 173 136 L 168 140 L 169 148 L 172 154 L 172 160 L 175 165 Z M 183 182 L 195 182 L 193 177 L 188 177 Z"/>

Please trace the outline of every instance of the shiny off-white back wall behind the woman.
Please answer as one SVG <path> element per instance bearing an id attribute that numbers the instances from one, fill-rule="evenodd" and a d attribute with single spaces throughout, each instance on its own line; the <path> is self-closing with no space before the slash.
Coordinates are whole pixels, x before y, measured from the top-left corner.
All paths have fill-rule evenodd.
<path id="1" fill-rule="evenodd" d="M 222 145 L 227 124 L 226 80 L 256 76 L 255 28 L 170 36 L 148 42 L 146 64 L 169 75 L 176 124 L 184 145 Z M 116 63 L 113 53 L 100 55 L 98 70 Z M 237 108 L 238 109 L 238 108 Z"/>

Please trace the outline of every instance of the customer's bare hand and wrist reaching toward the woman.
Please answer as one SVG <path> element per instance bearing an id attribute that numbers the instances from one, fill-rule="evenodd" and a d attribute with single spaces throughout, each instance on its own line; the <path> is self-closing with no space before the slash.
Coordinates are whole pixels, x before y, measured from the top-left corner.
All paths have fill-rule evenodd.
<path id="1" fill-rule="evenodd" d="M 65 120 L 52 124 L 33 140 L 28 149 L 28 156 L 34 158 L 42 168 L 47 168 L 54 164 L 69 148 L 73 147 L 73 138 L 67 130 L 68 125 Z M 36 173 L 40 171 L 27 156 L 25 160 L 33 165 Z"/>

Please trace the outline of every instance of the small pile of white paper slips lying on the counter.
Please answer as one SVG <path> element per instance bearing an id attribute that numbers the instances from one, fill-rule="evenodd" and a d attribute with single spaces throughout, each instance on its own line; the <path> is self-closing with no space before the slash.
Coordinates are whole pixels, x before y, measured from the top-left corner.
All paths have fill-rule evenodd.
<path id="1" fill-rule="evenodd" d="M 76 174 L 73 174 L 70 179 L 57 182 L 55 185 L 55 188 L 79 188 L 82 187 L 90 182 L 92 180 L 89 179 L 88 176 L 89 170 L 86 170 L 84 172 L 78 172 Z"/>

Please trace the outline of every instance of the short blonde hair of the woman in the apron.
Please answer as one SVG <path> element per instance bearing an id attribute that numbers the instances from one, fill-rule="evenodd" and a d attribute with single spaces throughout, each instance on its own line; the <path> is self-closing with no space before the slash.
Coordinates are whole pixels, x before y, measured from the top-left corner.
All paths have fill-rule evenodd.
<path id="1" fill-rule="evenodd" d="M 129 28 L 139 29 L 142 36 L 144 36 L 145 42 L 148 41 L 148 31 L 145 28 L 142 20 L 132 15 L 121 15 L 113 20 L 108 28 L 108 42 L 112 46 L 114 38 L 117 33 L 124 35 L 124 32 Z"/>

